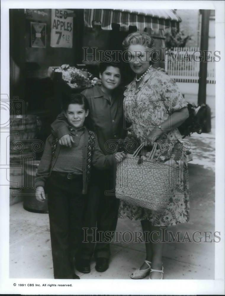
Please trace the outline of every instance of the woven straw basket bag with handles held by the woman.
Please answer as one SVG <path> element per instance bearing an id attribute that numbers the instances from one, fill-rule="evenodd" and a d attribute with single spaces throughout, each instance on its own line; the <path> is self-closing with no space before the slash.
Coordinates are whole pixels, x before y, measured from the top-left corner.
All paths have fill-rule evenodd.
<path id="1" fill-rule="evenodd" d="M 137 156 L 144 144 L 134 154 L 117 163 L 116 197 L 125 202 L 161 212 L 174 194 L 181 194 L 182 170 L 173 165 L 153 160 L 157 144 L 154 144 L 148 161 L 138 164 Z"/>

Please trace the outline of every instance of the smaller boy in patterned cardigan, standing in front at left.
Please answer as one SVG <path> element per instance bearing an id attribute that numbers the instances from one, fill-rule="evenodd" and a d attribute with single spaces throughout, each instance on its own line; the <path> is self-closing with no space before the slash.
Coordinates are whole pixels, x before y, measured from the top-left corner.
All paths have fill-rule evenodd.
<path id="1" fill-rule="evenodd" d="M 36 174 L 36 198 L 44 201 L 48 186 L 49 223 L 55 279 L 79 279 L 73 259 L 82 241 L 82 219 L 90 180 L 91 164 L 99 170 L 114 164 L 114 155 L 104 155 L 96 134 L 84 126 L 88 102 L 83 94 L 72 94 L 64 114 L 73 137 L 72 147 L 60 146 L 50 135 Z M 118 156 L 118 160 L 121 158 Z"/>

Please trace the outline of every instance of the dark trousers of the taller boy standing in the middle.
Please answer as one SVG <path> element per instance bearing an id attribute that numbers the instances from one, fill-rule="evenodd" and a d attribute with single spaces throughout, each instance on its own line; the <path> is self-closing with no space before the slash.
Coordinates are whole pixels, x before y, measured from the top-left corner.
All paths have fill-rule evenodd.
<path id="1" fill-rule="evenodd" d="M 110 242 L 118 220 L 119 200 L 105 191 L 114 189 L 114 170 L 92 172 L 86 215 L 83 229 L 83 243 L 79 257 L 90 260 L 110 257 Z"/>

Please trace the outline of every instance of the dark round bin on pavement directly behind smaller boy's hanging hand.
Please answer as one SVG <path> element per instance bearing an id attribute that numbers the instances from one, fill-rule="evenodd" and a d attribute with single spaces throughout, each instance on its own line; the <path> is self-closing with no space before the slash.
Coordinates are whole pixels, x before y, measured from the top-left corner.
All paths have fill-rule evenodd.
<path id="1" fill-rule="evenodd" d="M 27 188 L 23 189 L 23 192 L 24 192 L 23 208 L 29 212 L 48 213 L 47 195 L 45 194 L 44 202 L 39 202 L 38 200 L 36 200 L 36 196 L 35 196 L 35 188 L 34 188 L 35 179 L 34 178 L 35 178 L 39 163 L 40 163 L 40 160 L 26 162 L 24 177 L 25 177 L 25 184 L 27 184 L 28 186 L 26 186 Z"/>

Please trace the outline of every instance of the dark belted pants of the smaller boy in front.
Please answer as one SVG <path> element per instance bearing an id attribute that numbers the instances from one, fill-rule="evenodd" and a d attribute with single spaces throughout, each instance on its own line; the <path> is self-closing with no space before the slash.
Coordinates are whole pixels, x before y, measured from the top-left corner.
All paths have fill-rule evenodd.
<path id="1" fill-rule="evenodd" d="M 52 171 L 48 181 L 48 208 L 55 279 L 73 279 L 73 258 L 82 241 L 85 198 L 82 176 Z"/>

